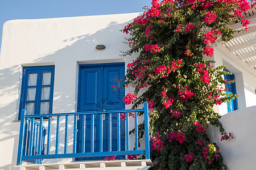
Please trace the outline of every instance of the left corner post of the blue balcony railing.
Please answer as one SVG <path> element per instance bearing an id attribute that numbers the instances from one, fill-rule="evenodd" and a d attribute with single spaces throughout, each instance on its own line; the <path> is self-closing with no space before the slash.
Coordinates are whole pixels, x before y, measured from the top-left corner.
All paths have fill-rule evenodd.
<path id="1" fill-rule="evenodd" d="M 19 128 L 19 146 L 18 146 L 18 156 L 17 156 L 17 165 L 22 164 L 22 154 L 24 148 L 24 129 L 25 129 L 25 115 L 27 114 L 26 109 L 22 109 L 20 117 L 20 128 Z"/>

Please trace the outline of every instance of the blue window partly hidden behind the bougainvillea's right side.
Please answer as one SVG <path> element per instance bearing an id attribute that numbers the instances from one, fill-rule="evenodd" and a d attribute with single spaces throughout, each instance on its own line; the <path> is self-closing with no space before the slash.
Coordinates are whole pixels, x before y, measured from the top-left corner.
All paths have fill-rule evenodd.
<path id="1" fill-rule="evenodd" d="M 230 72 L 228 69 L 224 69 L 224 70 Z M 229 82 L 230 80 L 236 80 L 234 73 L 224 75 L 224 79 L 227 82 Z M 236 82 L 234 82 L 232 84 L 227 84 L 226 83 L 225 87 L 228 88 L 228 91 L 226 92 L 227 96 L 229 96 L 229 94 L 233 94 L 233 95 L 237 94 Z M 236 111 L 238 109 L 237 98 L 234 99 L 234 100 L 231 99 L 227 104 L 228 104 L 228 113 L 232 112 L 232 111 Z"/>

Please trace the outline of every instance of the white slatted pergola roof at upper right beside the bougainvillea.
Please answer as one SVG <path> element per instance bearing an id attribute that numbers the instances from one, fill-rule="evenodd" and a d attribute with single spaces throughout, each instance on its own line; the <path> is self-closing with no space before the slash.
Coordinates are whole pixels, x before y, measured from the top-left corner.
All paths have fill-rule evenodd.
<path id="1" fill-rule="evenodd" d="M 235 33 L 234 39 L 228 42 L 218 39 L 214 46 L 256 76 L 256 8 L 251 7 L 243 15 L 243 18 L 250 20 L 247 31 Z M 230 27 L 236 30 L 244 28 L 241 23 L 234 23 Z"/>

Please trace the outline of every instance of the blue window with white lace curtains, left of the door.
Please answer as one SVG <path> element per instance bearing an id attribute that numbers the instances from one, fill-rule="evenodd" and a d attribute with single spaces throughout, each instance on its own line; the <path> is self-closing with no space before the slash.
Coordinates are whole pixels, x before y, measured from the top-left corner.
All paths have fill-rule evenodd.
<path id="1" fill-rule="evenodd" d="M 19 119 L 22 109 L 27 114 L 52 113 L 54 66 L 23 67 Z"/>

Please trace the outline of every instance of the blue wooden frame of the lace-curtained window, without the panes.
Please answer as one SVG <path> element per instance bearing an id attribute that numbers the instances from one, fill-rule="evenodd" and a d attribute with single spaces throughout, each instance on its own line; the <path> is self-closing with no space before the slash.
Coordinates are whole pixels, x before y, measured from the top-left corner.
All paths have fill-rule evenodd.
<path id="1" fill-rule="evenodd" d="M 29 74 L 36 73 L 36 85 L 28 85 Z M 50 84 L 43 85 L 43 73 L 51 73 L 51 82 Z M 22 72 L 22 87 L 20 91 L 20 104 L 19 104 L 19 116 L 18 120 L 20 120 L 20 114 L 22 109 L 26 107 L 26 103 L 35 103 L 34 115 L 40 114 L 40 105 L 41 102 L 49 102 L 49 114 L 52 113 L 52 103 L 53 103 L 53 87 L 54 87 L 54 76 L 55 76 L 55 66 L 24 66 Z M 50 87 L 49 99 L 42 100 L 42 87 Z M 28 88 L 36 88 L 35 100 L 27 100 L 27 91 Z"/>

